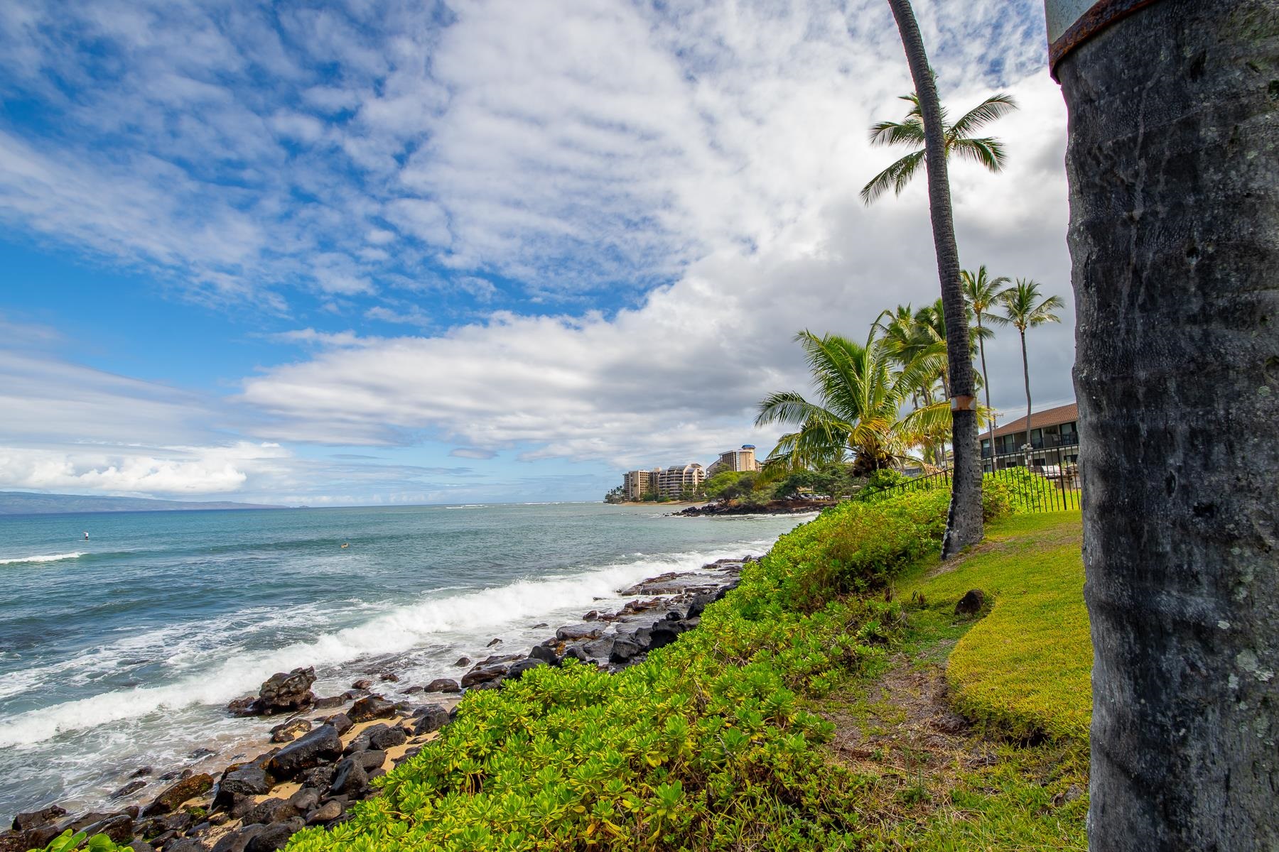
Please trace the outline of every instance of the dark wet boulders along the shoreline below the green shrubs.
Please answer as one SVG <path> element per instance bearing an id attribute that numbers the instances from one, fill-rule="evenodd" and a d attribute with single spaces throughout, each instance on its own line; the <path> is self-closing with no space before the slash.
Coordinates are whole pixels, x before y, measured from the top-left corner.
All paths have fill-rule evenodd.
<path id="1" fill-rule="evenodd" d="M 464 671 L 457 678 L 402 687 L 399 676 L 382 667 L 341 695 L 317 697 L 311 690 L 313 668 L 272 674 L 257 695 L 226 708 L 239 717 L 281 718 L 256 757 L 237 755 L 217 773 L 198 772 L 198 765 L 159 775 L 151 766 L 125 770 L 110 795 L 120 807 L 69 814 L 50 805 L 18 814 L 0 833 L 0 852 L 42 848 L 67 829 L 106 834 L 137 852 L 283 848 L 295 832 L 340 823 L 354 802 L 376 796 L 371 782 L 437 737 L 468 690 L 501 688 L 530 669 L 560 666 L 568 658 L 610 672 L 638 663 L 696 628 L 706 605 L 737 585 L 747 561 L 720 559 L 701 571 L 638 582 L 620 591 L 632 600 L 616 612 L 592 609 L 527 653 L 495 653 L 478 662 L 459 658 L 454 666 Z M 501 643 L 494 637 L 489 645 Z"/>

